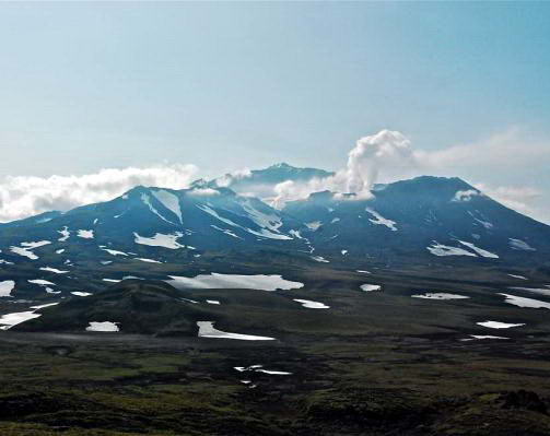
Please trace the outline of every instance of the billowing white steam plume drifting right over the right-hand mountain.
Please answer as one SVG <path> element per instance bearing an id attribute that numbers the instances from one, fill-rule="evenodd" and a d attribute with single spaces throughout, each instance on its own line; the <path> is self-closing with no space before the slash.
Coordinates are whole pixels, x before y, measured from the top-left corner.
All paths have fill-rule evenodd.
<path id="1" fill-rule="evenodd" d="M 335 176 L 277 185 L 273 189 L 273 204 L 280 208 L 285 201 L 306 198 L 309 193 L 321 190 L 355 192 L 356 198 L 368 198 L 372 186 L 378 179 L 389 182 L 419 175 L 482 179 L 490 174 L 492 179 L 498 175 L 510 179 L 511 175 L 548 162 L 550 142 L 519 128 L 507 129 L 481 141 L 436 151 L 412 150 L 411 142 L 402 133 L 383 130 L 358 140 L 348 154 L 347 167 Z M 476 188 L 511 209 L 539 221 L 550 222 L 550 210 L 543 210 L 540 204 L 543 203 L 541 197 L 545 193 L 522 185 L 493 187 L 484 182 L 476 185 Z M 454 201 L 468 201 L 473 195 L 478 192 L 461 191 Z"/>

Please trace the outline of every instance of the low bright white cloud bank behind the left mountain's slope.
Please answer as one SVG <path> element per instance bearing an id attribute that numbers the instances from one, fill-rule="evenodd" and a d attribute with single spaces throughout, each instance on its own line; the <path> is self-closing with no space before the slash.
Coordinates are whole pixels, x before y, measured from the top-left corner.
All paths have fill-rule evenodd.
<path id="1" fill-rule="evenodd" d="M 173 164 L 106 168 L 81 176 L 8 176 L 0 180 L 0 222 L 110 200 L 137 185 L 182 189 L 196 174 L 195 165 Z"/>

